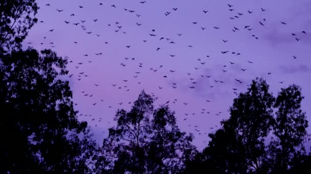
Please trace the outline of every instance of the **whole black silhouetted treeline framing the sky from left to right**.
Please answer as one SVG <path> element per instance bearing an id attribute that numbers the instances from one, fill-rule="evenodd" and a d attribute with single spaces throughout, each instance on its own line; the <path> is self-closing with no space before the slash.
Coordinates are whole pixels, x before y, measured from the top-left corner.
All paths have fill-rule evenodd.
<path id="1" fill-rule="evenodd" d="M 261 78 L 234 99 L 202 152 L 168 105 L 154 108 L 144 91 L 97 144 L 60 78 L 68 60 L 21 49 L 37 10 L 35 0 L 0 3 L 0 173 L 307 173 L 301 88 L 273 96 Z"/>

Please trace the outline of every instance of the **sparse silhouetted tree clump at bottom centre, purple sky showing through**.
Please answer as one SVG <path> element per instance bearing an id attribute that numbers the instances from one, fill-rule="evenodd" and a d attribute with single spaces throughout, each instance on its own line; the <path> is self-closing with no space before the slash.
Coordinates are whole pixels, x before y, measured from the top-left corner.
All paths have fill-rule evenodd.
<path id="1" fill-rule="evenodd" d="M 153 109 L 153 98 L 144 91 L 130 111 L 118 110 L 117 127 L 109 129 L 102 154 L 110 157 L 100 171 L 113 173 L 177 173 L 195 151 L 192 135 L 176 125 L 167 105 Z"/>

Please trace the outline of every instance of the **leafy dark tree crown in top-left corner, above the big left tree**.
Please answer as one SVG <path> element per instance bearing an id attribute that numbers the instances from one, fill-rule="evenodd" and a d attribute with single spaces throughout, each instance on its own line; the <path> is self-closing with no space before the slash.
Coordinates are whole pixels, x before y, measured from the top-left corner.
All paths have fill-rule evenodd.
<path id="1" fill-rule="evenodd" d="M 0 53 L 20 48 L 37 22 L 35 0 L 2 0 L 0 3 Z"/>

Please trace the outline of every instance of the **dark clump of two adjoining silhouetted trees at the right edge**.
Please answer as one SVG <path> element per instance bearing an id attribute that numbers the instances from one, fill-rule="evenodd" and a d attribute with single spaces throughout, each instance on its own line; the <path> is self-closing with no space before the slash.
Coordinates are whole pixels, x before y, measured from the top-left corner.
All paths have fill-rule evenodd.
<path id="1" fill-rule="evenodd" d="M 311 156 L 305 155 L 303 144 L 308 122 L 300 108 L 302 100 L 298 85 L 281 89 L 274 98 L 263 79 L 253 80 L 248 91 L 234 99 L 231 117 L 221 121 L 222 127 L 209 134 L 208 147 L 196 155 L 187 170 L 305 173 L 302 171 L 311 165 Z M 264 142 L 268 135 L 273 136 L 270 144 Z"/>

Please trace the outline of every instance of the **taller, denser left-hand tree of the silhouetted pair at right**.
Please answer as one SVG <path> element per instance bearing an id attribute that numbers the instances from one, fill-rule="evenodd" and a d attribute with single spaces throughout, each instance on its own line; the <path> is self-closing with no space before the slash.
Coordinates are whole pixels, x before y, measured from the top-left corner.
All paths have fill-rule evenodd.
<path id="1" fill-rule="evenodd" d="M 212 173 L 264 172 L 264 139 L 274 124 L 274 97 L 263 79 L 253 80 L 230 107 L 230 118 L 210 133 L 208 147 L 201 154 L 204 171 Z"/>

